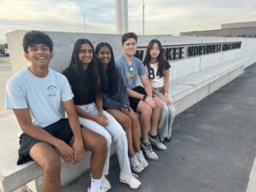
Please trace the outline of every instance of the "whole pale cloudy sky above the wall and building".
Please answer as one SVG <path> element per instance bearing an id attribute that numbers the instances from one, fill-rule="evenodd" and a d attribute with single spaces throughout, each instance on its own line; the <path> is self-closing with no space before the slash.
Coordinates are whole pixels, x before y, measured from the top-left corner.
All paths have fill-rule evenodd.
<path id="1" fill-rule="evenodd" d="M 144 0 L 145 35 L 219 29 L 256 20 L 256 0 Z M 84 14 L 86 13 L 86 14 Z M 15 30 L 116 33 L 114 0 L 0 0 L 0 44 Z M 143 34 L 143 0 L 128 0 L 129 31 Z"/>

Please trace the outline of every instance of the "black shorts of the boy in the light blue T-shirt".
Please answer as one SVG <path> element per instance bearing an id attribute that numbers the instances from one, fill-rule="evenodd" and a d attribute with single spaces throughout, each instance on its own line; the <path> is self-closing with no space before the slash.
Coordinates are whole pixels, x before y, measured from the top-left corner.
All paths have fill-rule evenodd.
<path id="1" fill-rule="evenodd" d="M 69 144 L 71 138 L 73 137 L 73 131 L 68 123 L 68 119 L 60 119 L 57 122 L 44 127 L 44 130 L 49 132 L 50 135 L 61 139 L 63 142 Z M 31 148 L 42 141 L 35 139 L 23 133 L 20 136 L 20 149 L 19 149 L 19 159 L 17 165 L 26 163 L 32 160 L 29 152 Z"/>

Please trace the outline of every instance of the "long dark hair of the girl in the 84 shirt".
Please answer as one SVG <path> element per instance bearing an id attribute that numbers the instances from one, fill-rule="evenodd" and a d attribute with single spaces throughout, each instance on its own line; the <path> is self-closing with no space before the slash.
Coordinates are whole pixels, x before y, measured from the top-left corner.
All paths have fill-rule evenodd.
<path id="1" fill-rule="evenodd" d="M 152 39 L 149 44 L 148 44 L 148 47 L 147 47 L 147 51 L 146 51 L 146 56 L 145 56 L 145 59 L 143 61 L 144 65 L 147 66 L 147 68 L 149 69 L 150 68 L 150 60 L 151 60 L 151 56 L 150 56 L 150 49 L 152 49 L 153 45 L 154 44 L 157 44 L 159 49 L 160 49 L 160 53 L 159 55 L 157 56 L 157 61 L 158 61 L 158 70 L 157 70 L 157 74 L 160 75 L 160 78 L 163 77 L 165 75 L 165 72 L 166 72 L 166 63 L 168 61 L 166 61 L 166 56 L 164 54 L 164 49 L 160 43 L 159 40 L 157 39 Z"/>

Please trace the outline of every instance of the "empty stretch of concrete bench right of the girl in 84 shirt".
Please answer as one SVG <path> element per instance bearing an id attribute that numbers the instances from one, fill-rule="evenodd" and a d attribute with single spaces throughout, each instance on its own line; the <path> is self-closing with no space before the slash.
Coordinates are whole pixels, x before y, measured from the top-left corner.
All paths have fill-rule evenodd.
<path id="1" fill-rule="evenodd" d="M 224 86 L 224 84 L 236 79 L 237 76 L 243 73 L 244 67 L 250 61 L 251 58 L 236 58 L 236 60 L 227 61 L 172 80 L 169 90 L 176 108 L 176 114 L 183 112 Z"/>

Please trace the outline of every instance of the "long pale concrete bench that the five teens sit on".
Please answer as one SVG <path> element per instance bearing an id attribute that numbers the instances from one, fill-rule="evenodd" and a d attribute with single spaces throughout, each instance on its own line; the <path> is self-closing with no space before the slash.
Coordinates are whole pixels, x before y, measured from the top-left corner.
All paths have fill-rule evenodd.
<path id="1" fill-rule="evenodd" d="M 236 58 L 220 65 L 209 67 L 198 73 L 191 73 L 180 79 L 175 79 L 170 83 L 170 91 L 176 108 L 176 113 L 181 113 L 191 107 L 196 102 L 218 90 L 224 84 L 229 83 L 241 73 L 244 66 L 247 66 L 250 59 Z M 28 162 L 17 166 L 17 150 L 19 148 L 18 138 L 16 137 L 17 123 L 15 116 L 3 119 L 9 129 L 3 132 L 0 130 L 2 138 L 0 140 L 0 191 L 14 191 L 28 183 L 32 191 L 42 191 L 42 172 L 34 162 Z M 114 153 L 112 148 L 112 154 Z M 90 166 L 90 152 L 86 152 L 84 159 L 79 165 L 73 166 L 61 163 L 61 182 L 67 184 L 74 178 L 86 171 Z M 21 191 L 21 189 L 15 191 Z"/>

